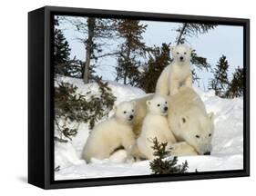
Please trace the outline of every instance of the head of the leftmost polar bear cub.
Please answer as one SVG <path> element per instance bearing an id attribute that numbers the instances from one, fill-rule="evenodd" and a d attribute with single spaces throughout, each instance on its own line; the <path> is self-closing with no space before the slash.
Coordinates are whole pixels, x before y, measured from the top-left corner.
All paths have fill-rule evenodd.
<path id="1" fill-rule="evenodd" d="M 136 102 L 122 102 L 113 107 L 115 117 L 120 122 L 132 122 L 136 114 Z"/>

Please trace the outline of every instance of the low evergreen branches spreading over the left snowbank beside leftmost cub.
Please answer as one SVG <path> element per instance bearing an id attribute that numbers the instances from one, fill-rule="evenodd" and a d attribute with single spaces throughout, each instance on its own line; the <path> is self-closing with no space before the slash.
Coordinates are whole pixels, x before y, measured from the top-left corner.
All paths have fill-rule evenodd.
<path id="1" fill-rule="evenodd" d="M 92 129 L 95 122 L 108 116 L 116 97 L 112 94 L 108 83 L 97 80 L 99 95 L 88 92 L 77 93 L 77 86 L 71 83 L 58 83 L 55 88 L 55 124 L 59 132 L 58 141 L 71 140 L 77 134 L 77 127 L 70 128 L 70 122 L 86 122 Z M 64 136 L 64 137 L 63 137 Z"/>

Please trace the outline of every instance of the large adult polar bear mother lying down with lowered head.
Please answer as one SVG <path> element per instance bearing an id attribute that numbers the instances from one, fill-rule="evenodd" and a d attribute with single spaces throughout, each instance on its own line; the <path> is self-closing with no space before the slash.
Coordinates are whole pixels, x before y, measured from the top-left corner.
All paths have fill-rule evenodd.
<path id="1" fill-rule="evenodd" d="M 146 102 L 152 97 L 153 94 L 135 100 L 140 111 L 135 118 L 135 124 L 143 121 L 147 113 Z M 192 88 L 182 86 L 179 93 L 169 96 L 168 123 L 178 140 L 175 151 L 185 155 L 189 144 L 199 154 L 210 154 L 213 113 L 206 112 L 200 96 Z M 136 129 L 141 130 L 141 127 L 137 126 Z"/>

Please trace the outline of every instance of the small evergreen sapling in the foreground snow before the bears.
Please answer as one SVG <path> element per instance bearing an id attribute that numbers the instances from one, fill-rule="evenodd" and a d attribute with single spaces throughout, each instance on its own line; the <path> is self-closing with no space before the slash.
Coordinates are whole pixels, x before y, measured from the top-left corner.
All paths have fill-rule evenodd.
<path id="1" fill-rule="evenodd" d="M 177 156 L 169 157 L 170 152 L 166 149 L 167 142 L 159 143 L 157 138 L 154 138 L 152 142 L 152 149 L 156 158 L 149 162 L 149 166 L 153 174 L 184 173 L 188 170 L 189 165 L 187 161 L 180 165 L 177 164 Z"/>

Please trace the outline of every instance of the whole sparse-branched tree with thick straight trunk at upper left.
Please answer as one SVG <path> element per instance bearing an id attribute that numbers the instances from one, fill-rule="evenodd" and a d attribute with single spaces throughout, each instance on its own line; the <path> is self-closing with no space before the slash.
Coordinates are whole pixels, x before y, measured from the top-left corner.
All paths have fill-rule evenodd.
<path id="1" fill-rule="evenodd" d="M 86 59 L 82 68 L 84 83 L 93 79 L 93 68 L 99 58 L 114 55 L 103 53 L 103 46 L 108 44 L 108 39 L 113 39 L 117 31 L 115 19 L 96 17 L 66 17 L 66 21 L 74 25 L 81 34 L 77 39 L 85 45 Z M 106 42 L 107 40 L 107 42 Z"/>

